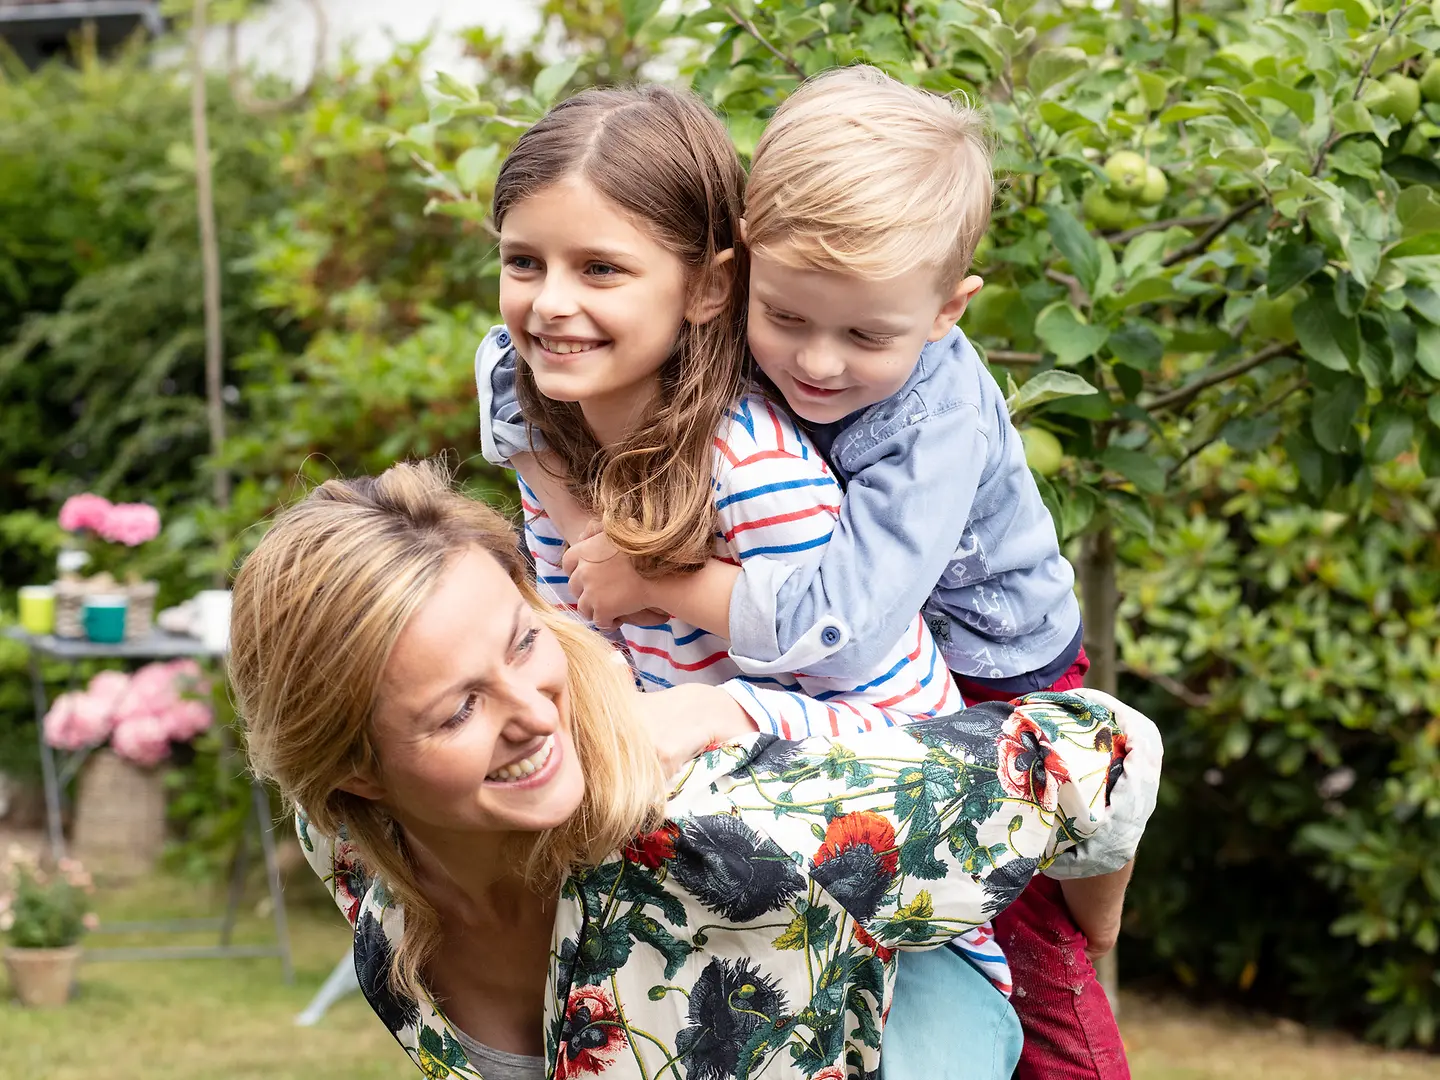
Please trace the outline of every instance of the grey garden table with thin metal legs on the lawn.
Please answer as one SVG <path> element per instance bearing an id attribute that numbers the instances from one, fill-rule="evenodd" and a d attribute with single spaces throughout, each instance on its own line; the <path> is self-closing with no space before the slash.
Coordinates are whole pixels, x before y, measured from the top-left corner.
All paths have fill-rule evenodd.
<path id="1" fill-rule="evenodd" d="M 56 753 L 45 742 L 45 714 L 49 711 L 49 694 L 45 688 L 45 677 L 40 670 L 42 660 L 60 661 L 69 665 L 71 688 L 73 690 L 79 677 L 79 662 L 84 660 L 180 660 L 192 657 L 196 660 L 219 660 L 223 649 L 209 648 L 197 638 L 180 634 L 166 634 L 153 631 L 150 636 L 140 641 L 125 641 L 118 645 L 98 645 L 92 641 L 76 638 L 58 638 L 55 635 L 33 635 L 19 626 L 7 626 L 6 635 L 26 645 L 30 654 L 30 693 L 35 698 L 35 727 L 40 749 L 40 775 L 45 782 L 45 819 L 50 844 L 50 854 L 55 858 L 65 857 L 65 829 L 62 819 L 62 802 L 65 788 L 81 765 L 86 752 Z M 230 886 L 226 897 L 225 914 L 210 919 L 160 919 L 151 922 L 120 922 L 101 926 L 99 933 L 192 933 L 196 930 L 220 932 L 217 945 L 164 945 L 137 949 L 85 949 L 85 960 L 164 960 L 164 959 L 217 959 L 240 956 L 278 956 L 285 975 L 285 982 L 294 982 L 295 973 L 289 958 L 289 930 L 285 923 L 285 897 L 281 893 L 279 860 L 275 851 L 275 828 L 271 821 L 269 795 L 255 779 L 251 780 L 251 804 L 253 814 L 245 819 L 245 829 L 236 845 L 230 864 Z M 269 888 L 271 913 L 275 923 L 275 942 L 272 945 L 233 945 L 230 937 L 235 930 L 235 920 L 239 912 L 240 899 L 245 893 L 245 874 L 249 868 L 251 845 L 253 837 L 259 835 L 261 854 L 265 860 L 265 881 Z"/>

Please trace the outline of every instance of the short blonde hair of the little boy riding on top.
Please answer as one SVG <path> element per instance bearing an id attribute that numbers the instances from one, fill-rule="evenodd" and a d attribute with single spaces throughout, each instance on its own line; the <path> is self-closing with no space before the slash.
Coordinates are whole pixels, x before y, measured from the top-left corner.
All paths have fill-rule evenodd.
<path id="1" fill-rule="evenodd" d="M 865 278 L 969 269 L 994 200 L 985 114 L 865 65 L 804 82 L 755 148 L 746 245 Z"/>

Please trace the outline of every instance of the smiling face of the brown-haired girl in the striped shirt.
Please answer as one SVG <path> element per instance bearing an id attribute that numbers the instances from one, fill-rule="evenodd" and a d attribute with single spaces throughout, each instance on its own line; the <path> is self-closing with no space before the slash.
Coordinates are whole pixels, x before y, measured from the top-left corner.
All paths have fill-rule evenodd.
<path id="1" fill-rule="evenodd" d="M 540 393 L 618 439 L 690 314 L 684 262 L 576 176 L 505 215 L 500 256 L 500 314 Z"/>

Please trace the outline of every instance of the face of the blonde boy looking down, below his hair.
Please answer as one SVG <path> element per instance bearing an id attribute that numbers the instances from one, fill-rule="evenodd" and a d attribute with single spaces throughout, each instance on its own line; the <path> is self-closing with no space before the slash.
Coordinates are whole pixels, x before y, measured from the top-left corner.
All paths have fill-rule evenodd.
<path id="1" fill-rule="evenodd" d="M 791 410 L 834 423 L 894 395 L 926 341 L 945 337 L 979 289 L 942 292 L 932 268 L 871 281 L 750 255 L 750 351 Z"/>

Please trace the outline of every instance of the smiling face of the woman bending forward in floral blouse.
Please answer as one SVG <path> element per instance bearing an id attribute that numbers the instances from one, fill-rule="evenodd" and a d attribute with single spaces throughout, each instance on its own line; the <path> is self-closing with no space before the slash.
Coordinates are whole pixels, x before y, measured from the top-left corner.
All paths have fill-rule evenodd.
<path id="1" fill-rule="evenodd" d="M 585 793 L 569 727 L 560 642 L 477 547 L 396 641 L 376 708 L 380 776 L 356 791 L 410 829 L 553 828 Z"/>

